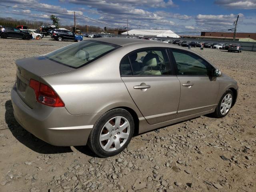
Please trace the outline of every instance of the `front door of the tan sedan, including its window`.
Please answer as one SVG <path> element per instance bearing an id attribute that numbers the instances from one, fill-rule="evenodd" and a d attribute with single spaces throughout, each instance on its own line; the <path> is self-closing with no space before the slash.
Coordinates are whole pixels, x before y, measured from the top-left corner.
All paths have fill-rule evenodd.
<path id="1" fill-rule="evenodd" d="M 200 56 L 185 50 L 172 49 L 172 56 L 181 85 L 177 118 L 215 108 L 219 81 L 211 75 L 213 67 Z"/>

